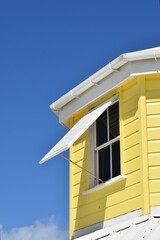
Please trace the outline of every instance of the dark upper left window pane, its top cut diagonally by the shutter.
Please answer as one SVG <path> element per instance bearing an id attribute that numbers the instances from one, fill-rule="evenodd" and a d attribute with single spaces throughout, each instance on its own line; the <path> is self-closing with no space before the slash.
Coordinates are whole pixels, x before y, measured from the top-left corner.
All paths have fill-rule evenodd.
<path id="1" fill-rule="evenodd" d="M 105 111 L 96 121 L 96 146 L 107 141 L 107 111 Z"/>

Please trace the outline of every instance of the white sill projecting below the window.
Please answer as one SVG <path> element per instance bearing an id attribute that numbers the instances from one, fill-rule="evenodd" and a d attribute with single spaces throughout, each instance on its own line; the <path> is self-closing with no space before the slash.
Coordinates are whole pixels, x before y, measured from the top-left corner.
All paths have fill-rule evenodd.
<path id="1" fill-rule="evenodd" d="M 93 187 L 91 189 L 88 189 L 88 190 L 82 192 L 82 195 L 88 195 L 89 193 L 92 193 L 92 192 L 98 191 L 100 189 L 115 185 L 116 183 L 121 182 L 125 179 L 127 179 L 127 176 L 119 175 L 119 176 L 114 177 L 114 178 L 112 178 L 112 179 L 110 179 L 110 180 L 108 180 L 104 183 L 100 183 L 100 184 L 96 185 L 95 187 Z"/>

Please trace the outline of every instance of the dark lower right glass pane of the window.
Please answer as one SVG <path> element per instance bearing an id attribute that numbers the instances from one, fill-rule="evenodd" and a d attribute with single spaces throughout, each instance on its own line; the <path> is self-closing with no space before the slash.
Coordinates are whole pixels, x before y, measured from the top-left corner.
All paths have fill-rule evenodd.
<path id="1" fill-rule="evenodd" d="M 112 144 L 112 177 L 120 175 L 120 143 Z"/>

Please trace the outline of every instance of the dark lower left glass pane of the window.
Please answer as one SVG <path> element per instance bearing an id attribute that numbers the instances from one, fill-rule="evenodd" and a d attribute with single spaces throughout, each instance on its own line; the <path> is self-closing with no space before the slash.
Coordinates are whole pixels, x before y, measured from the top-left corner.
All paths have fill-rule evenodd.
<path id="1" fill-rule="evenodd" d="M 107 181 L 110 175 L 110 147 L 99 150 L 99 178 Z M 100 183 L 100 182 L 99 182 Z"/>

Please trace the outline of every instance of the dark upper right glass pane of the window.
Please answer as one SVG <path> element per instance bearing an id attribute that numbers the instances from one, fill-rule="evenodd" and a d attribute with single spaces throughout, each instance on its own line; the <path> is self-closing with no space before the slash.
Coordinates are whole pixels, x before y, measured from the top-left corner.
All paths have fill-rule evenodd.
<path id="1" fill-rule="evenodd" d="M 109 107 L 109 138 L 119 136 L 119 105 L 118 102 Z"/>

